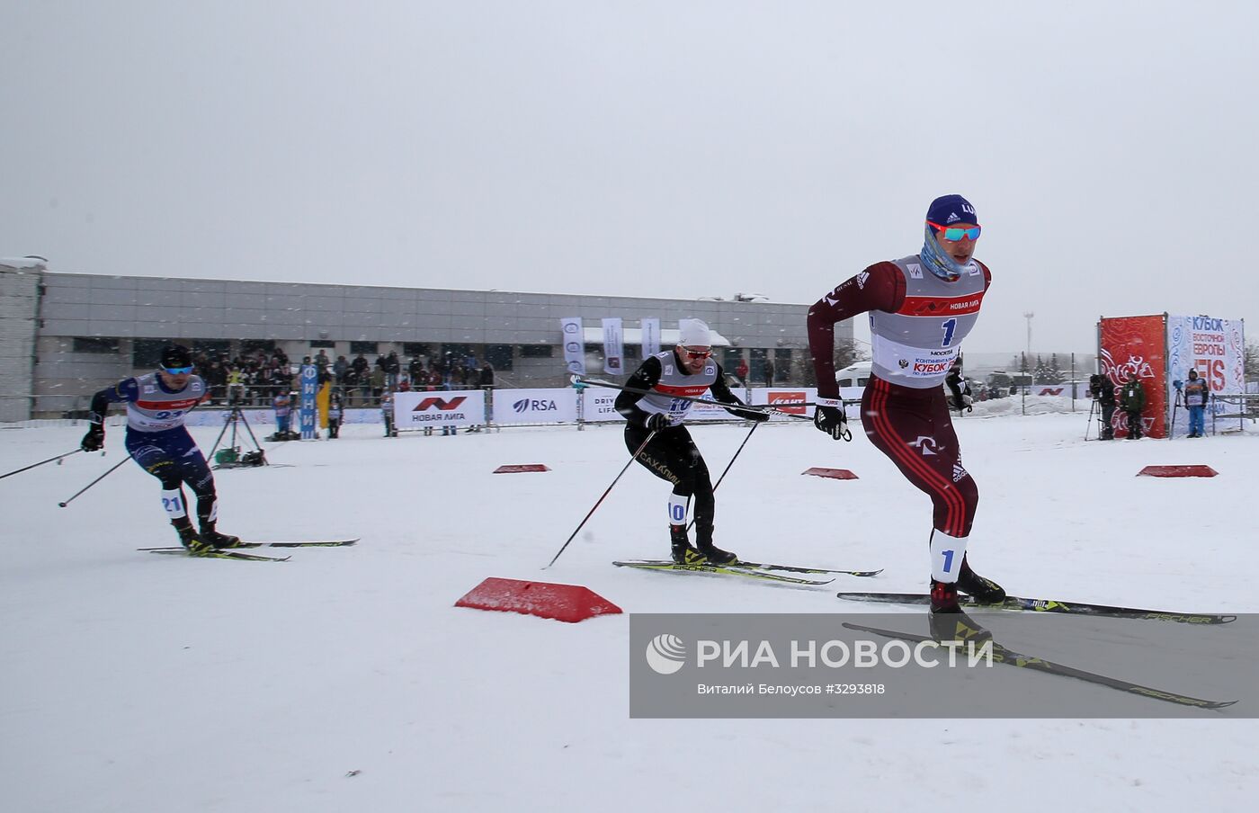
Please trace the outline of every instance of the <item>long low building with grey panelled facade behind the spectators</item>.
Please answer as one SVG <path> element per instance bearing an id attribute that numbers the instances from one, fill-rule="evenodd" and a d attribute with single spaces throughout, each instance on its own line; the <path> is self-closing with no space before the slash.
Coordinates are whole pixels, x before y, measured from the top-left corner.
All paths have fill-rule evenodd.
<path id="1" fill-rule="evenodd" d="M 621 317 L 627 339 L 640 320 L 661 321 L 662 337 L 680 318 L 701 318 L 718 334 L 716 357 L 739 360 L 748 378 L 808 384 L 812 364 L 807 306 L 776 302 L 656 300 L 511 291 L 451 291 L 359 284 L 307 284 L 55 273 L 40 261 L 0 261 L 0 420 L 76 414 L 92 393 L 156 366 L 171 341 L 232 357 L 281 349 L 295 361 L 324 350 L 369 360 L 398 352 L 488 361 L 499 386 L 562 386 L 568 376 L 560 320 L 585 326 Z M 602 345 L 587 357 L 602 370 Z M 836 326 L 851 340 L 852 325 Z M 626 345 L 627 371 L 641 350 Z"/>

